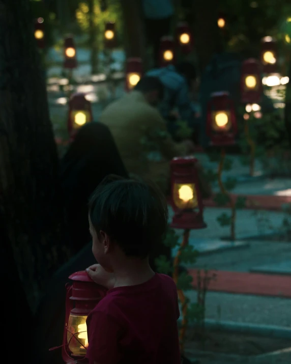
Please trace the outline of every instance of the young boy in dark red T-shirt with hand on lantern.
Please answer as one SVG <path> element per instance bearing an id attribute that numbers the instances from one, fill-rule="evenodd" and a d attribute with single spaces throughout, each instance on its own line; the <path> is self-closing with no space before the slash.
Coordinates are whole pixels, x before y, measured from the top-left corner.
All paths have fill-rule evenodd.
<path id="1" fill-rule="evenodd" d="M 149 265 L 162 244 L 168 210 L 152 185 L 107 178 L 89 203 L 89 276 L 108 288 L 87 319 L 90 364 L 180 364 L 177 287 Z"/>

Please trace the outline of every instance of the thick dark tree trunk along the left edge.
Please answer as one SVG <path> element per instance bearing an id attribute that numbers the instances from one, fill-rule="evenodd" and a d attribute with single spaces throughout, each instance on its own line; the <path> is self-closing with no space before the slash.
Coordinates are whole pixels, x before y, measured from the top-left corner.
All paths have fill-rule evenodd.
<path id="1" fill-rule="evenodd" d="M 69 256 L 57 163 L 30 2 L 0 0 L 0 241 L 13 252 L 33 313 L 47 279 Z M 19 293 L 20 307 L 21 300 Z"/>

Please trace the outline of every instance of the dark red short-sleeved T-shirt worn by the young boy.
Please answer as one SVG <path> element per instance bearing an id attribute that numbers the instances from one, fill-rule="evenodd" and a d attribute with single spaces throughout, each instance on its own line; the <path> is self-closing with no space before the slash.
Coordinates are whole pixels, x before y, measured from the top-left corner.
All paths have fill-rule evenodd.
<path id="1" fill-rule="evenodd" d="M 148 282 L 109 290 L 87 318 L 90 364 L 180 364 L 176 284 Z"/>

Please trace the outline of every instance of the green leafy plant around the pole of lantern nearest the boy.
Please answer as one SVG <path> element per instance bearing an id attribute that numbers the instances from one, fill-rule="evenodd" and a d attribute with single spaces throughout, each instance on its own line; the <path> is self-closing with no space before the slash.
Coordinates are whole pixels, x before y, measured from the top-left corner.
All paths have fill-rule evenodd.
<path id="1" fill-rule="evenodd" d="M 178 297 L 182 308 L 182 326 L 180 329 L 180 348 L 181 353 L 184 353 L 185 344 L 185 333 L 189 322 L 193 322 L 197 326 L 199 332 L 203 332 L 204 321 L 205 321 L 205 302 L 206 293 L 208 290 L 209 282 L 212 279 L 207 276 L 201 279 L 200 272 L 198 273 L 197 279 L 197 302 L 190 303 L 188 297 L 185 296 L 184 292 L 193 289 L 192 282 L 193 278 L 187 272 L 179 273 L 179 265 L 182 263 L 194 264 L 197 257 L 198 251 L 195 250 L 191 245 L 188 244 L 190 231 L 186 229 L 184 231 L 182 243 L 179 243 L 179 236 L 177 233 L 168 227 L 168 231 L 164 240 L 164 244 L 170 248 L 178 248 L 178 253 L 174 259 L 173 266 L 171 262 L 166 259 L 165 256 L 161 256 L 156 259 L 155 263 L 158 267 L 158 272 L 172 275 L 177 285 Z M 202 330 L 202 331 L 201 331 Z"/>

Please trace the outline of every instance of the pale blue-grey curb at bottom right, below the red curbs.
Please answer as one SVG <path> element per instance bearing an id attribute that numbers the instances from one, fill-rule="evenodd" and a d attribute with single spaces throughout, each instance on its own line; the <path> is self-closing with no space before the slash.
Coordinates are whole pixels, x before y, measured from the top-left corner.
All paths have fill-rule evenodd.
<path id="1" fill-rule="evenodd" d="M 182 319 L 178 319 L 178 325 L 181 325 Z M 194 325 L 189 325 L 190 327 Z M 262 337 L 276 339 L 290 339 L 291 327 L 271 326 L 271 325 L 256 325 L 251 323 L 242 323 L 235 321 L 217 321 L 206 319 L 205 327 L 210 330 L 221 330 L 227 332 L 254 334 Z"/>

